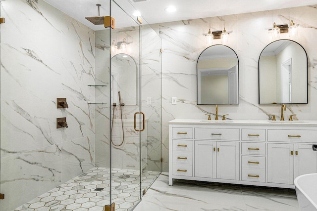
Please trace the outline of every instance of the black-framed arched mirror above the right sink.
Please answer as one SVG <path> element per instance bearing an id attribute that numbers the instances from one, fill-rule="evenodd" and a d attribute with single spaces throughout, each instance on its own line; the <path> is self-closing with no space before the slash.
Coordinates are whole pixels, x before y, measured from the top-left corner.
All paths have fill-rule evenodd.
<path id="1" fill-rule="evenodd" d="M 268 44 L 259 58 L 259 104 L 308 103 L 307 54 L 290 40 Z"/>

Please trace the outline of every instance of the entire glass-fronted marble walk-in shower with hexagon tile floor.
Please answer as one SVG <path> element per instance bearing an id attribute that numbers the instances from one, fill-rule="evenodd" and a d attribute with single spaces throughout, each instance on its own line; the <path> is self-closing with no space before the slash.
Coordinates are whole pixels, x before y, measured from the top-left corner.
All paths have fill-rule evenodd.
<path id="1" fill-rule="evenodd" d="M 1 211 L 132 210 L 159 175 L 161 40 L 122 2 L 0 1 Z"/>

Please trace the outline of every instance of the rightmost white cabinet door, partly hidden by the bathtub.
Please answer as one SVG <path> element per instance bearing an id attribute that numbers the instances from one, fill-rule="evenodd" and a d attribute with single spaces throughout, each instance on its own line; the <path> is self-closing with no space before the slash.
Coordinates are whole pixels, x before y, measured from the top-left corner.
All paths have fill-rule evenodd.
<path id="1" fill-rule="evenodd" d="M 294 145 L 294 179 L 299 175 L 317 173 L 317 152 L 312 144 Z"/>

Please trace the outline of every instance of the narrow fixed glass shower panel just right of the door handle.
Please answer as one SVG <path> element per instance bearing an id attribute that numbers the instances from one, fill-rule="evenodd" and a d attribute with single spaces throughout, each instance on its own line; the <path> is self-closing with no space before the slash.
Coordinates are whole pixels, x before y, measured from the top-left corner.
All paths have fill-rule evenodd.
<path id="1" fill-rule="evenodd" d="M 142 192 L 161 172 L 161 39 L 150 25 L 141 26 L 141 110 L 147 133 L 141 134 Z"/>

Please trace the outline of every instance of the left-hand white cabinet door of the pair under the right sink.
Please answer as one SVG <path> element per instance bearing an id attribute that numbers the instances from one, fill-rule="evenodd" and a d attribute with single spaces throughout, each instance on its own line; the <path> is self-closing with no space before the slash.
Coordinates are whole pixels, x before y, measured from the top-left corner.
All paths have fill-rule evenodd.
<path id="1" fill-rule="evenodd" d="M 293 184 L 294 145 L 267 145 L 267 181 L 272 183 Z"/>

